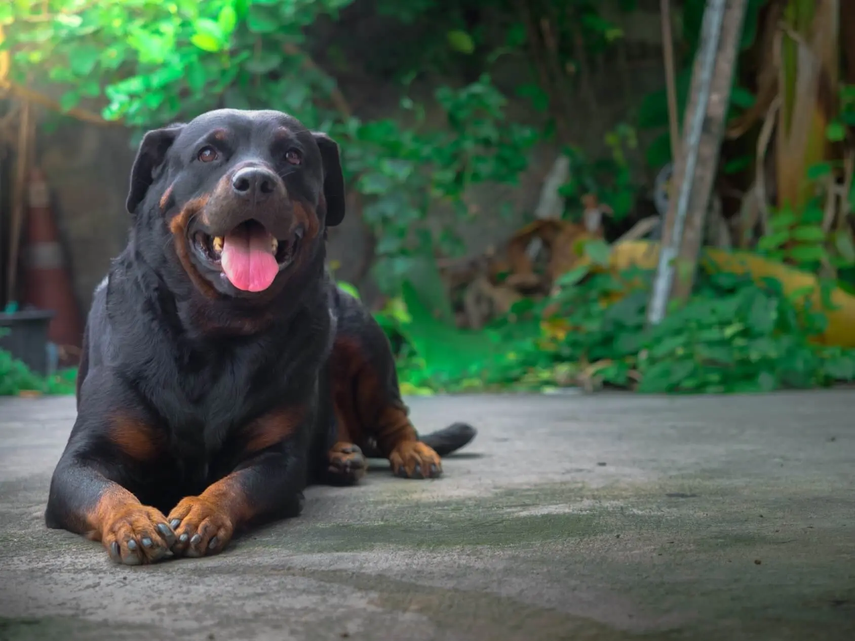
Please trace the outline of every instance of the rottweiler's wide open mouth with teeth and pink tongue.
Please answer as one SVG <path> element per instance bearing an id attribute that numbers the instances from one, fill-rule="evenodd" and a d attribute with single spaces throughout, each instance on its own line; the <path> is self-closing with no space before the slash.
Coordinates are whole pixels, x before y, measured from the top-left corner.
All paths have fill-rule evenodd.
<path id="1" fill-rule="evenodd" d="M 203 262 L 220 268 L 239 290 L 264 291 L 293 262 L 302 237 L 298 229 L 292 238 L 280 240 L 260 222 L 246 221 L 225 236 L 196 232 L 192 244 Z"/>

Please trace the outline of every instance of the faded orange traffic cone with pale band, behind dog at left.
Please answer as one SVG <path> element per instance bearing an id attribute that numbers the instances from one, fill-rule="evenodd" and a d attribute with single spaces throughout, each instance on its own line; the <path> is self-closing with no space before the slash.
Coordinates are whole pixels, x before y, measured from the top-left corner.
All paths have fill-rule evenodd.
<path id="1" fill-rule="evenodd" d="M 30 170 L 24 303 L 55 312 L 48 338 L 62 351 L 79 353 L 83 338 L 80 308 L 65 269 L 44 173 Z M 68 349 L 72 348 L 72 349 Z M 74 349 L 78 348 L 78 349 Z"/>

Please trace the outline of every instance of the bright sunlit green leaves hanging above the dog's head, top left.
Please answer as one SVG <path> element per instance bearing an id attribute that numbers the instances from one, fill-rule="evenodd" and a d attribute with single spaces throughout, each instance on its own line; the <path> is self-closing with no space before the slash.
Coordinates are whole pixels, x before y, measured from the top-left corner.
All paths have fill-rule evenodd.
<path id="1" fill-rule="evenodd" d="M 319 126 L 325 114 L 310 92 L 328 91 L 331 80 L 303 68 L 288 45 L 350 2 L 18 0 L 9 29 L 13 77 L 66 85 L 66 109 L 105 97 L 104 117 L 130 126 L 270 103 Z"/>

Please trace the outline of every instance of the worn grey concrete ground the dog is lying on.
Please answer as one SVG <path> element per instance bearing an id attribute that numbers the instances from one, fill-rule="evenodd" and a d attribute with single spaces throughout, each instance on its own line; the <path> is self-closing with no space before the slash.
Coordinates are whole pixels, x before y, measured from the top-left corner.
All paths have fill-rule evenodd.
<path id="1" fill-rule="evenodd" d="M 411 405 L 442 479 L 133 568 L 44 527 L 73 400 L 0 401 L 0 639 L 855 639 L 855 391 Z"/>

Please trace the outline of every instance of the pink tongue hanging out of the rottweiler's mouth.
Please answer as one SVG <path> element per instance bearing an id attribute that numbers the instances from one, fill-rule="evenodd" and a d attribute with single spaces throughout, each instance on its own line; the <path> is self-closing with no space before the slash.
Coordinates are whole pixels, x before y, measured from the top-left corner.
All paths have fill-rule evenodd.
<path id="1" fill-rule="evenodd" d="M 279 265 L 272 240 L 261 225 L 240 225 L 227 233 L 220 262 L 232 285 L 244 291 L 264 291 L 273 283 Z"/>

